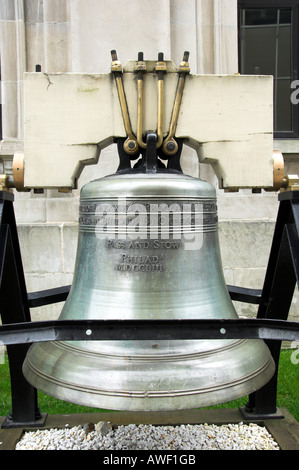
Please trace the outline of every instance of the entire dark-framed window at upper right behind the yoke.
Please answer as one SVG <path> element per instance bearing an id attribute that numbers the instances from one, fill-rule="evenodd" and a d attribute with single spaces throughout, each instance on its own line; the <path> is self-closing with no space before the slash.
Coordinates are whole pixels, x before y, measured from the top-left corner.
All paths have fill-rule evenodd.
<path id="1" fill-rule="evenodd" d="M 239 0 L 239 72 L 273 75 L 276 138 L 299 138 L 299 105 L 291 101 L 298 79 L 299 0 Z"/>

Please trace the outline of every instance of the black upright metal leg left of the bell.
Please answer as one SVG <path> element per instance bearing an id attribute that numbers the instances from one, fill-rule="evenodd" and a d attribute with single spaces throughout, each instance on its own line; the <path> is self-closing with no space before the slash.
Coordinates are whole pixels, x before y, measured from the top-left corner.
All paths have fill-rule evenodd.
<path id="1" fill-rule="evenodd" d="M 0 314 L 3 324 L 31 322 L 21 251 L 13 209 L 13 195 L 0 192 Z M 1 338 L 0 338 L 1 341 Z M 37 392 L 22 373 L 28 344 L 7 346 L 11 377 L 12 410 L 2 427 L 42 423 Z"/>

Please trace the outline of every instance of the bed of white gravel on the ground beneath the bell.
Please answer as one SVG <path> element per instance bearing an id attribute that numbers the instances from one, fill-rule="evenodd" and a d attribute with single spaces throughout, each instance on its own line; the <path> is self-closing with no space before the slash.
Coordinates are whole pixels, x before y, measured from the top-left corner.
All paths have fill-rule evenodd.
<path id="1" fill-rule="evenodd" d="M 265 427 L 254 423 L 111 426 L 100 421 L 25 432 L 16 450 L 279 450 L 279 446 Z"/>

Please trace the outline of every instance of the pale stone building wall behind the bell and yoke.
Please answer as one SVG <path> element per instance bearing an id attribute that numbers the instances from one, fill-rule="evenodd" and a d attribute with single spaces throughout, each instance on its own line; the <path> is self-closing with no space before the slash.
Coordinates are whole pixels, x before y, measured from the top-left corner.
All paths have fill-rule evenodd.
<path id="1" fill-rule="evenodd" d="M 137 58 L 165 58 L 179 63 L 190 51 L 192 73 L 238 72 L 236 0 L 1 0 L 1 73 L 3 141 L 2 171 L 11 171 L 16 149 L 23 146 L 22 74 L 44 72 L 107 73 L 110 50 L 122 64 Z M 246 110 L 244 110 L 246 112 Z M 53 136 L 55 138 L 55 136 Z M 286 165 L 298 165 L 299 143 L 275 142 Z M 83 184 L 110 174 L 117 167 L 114 145 L 101 153 L 97 166 L 86 167 L 78 190 L 69 194 L 16 193 L 15 211 L 29 291 L 68 285 L 72 281 L 77 245 L 78 198 Z M 208 165 L 185 149 L 183 169 L 217 187 Z M 57 168 L 59 171 L 59 168 Z M 277 194 L 250 190 L 217 190 L 219 236 L 229 284 L 261 288 L 278 208 Z M 236 303 L 241 315 L 256 307 Z M 32 311 L 33 319 L 56 318 L 61 304 Z M 296 296 L 291 318 L 299 316 Z"/>

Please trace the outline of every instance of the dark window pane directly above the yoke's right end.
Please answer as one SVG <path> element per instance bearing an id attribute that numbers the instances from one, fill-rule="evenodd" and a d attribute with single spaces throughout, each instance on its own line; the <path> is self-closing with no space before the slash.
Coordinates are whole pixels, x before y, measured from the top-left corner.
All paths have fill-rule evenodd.
<path id="1" fill-rule="evenodd" d="M 275 74 L 276 27 L 245 28 L 242 35 L 242 71 L 261 75 Z"/>

